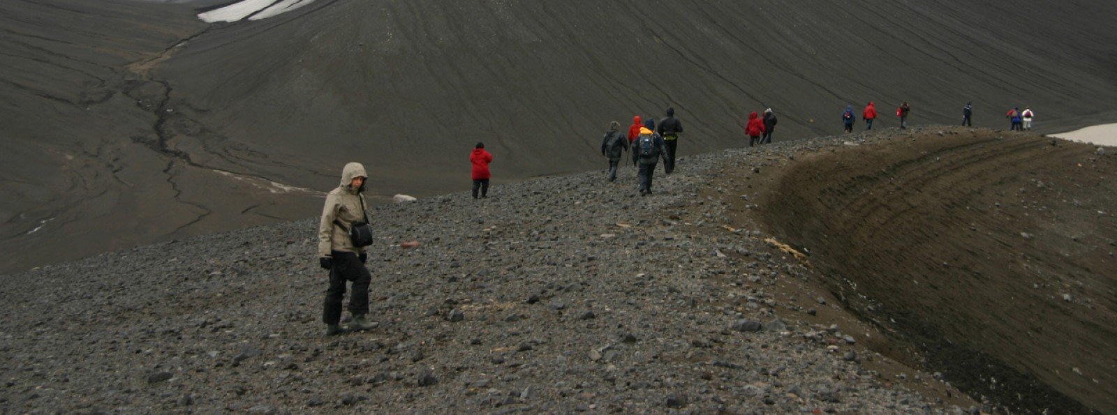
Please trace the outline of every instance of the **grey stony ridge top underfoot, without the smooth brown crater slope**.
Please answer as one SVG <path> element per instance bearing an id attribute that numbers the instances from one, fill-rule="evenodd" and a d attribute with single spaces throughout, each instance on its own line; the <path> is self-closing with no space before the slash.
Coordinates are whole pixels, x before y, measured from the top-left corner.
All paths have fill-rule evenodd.
<path id="1" fill-rule="evenodd" d="M 945 139 L 938 131 L 886 129 L 688 156 L 670 176 L 660 170 L 656 193 L 642 197 L 634 170 L 626 167 L 613 183 L 594 171 L 495 186 L 485 200 L 458 192 L 376 206 L 380 233 L 369 267 L 380 327 L 369 332 L 323 336 L 326 272 L 314 258 L 316 218 L 2 276 L 0 408 L 1108 408 L 1104 398 L 1086 409 L 1075 400 L 1021 407 L 960 392 L 954 371 L 920 360 L 895 326 L 855 318 L 863 310 L 834 288 L 842 283 L 833 282 L 840 262 L 823 247 L 783 240 L 792 237 L 775 221 L 781 210 L 765 204 L 775 203 L 772 190 L 796 185 L 780 181 L 796 177 L 793 167 L 834 153 L 869 165 L 897 142 Z M 1006 139 L 1018 138 L 1047 139 Z M 1067 145 L 1073 144 L 1060 144 Z M 849 156 L 852 147 L 863 156 Z M 1113 173 L 1113 155 L 1097 157 Z M 798 185 L 812 189 L 806 184 Z M 1111 226 L 1111 214 L 1105 218 L 1094 223 Z M 409 241 L 421 245 L 401 247 Z M 1098 309 L 1087 316 L 1096 324 L 1111 321 L 1113 308 L 1105 308 L 1111 288 L 1107 296 L 1095 299 Z"/>

